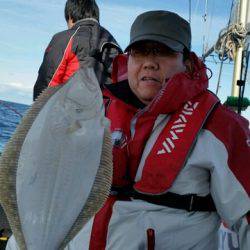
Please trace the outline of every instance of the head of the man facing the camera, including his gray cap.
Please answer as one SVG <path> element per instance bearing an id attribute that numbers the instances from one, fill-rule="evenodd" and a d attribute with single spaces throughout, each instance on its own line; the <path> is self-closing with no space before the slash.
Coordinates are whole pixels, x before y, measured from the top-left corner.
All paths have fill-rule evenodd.
<path id="1" fill-rule="evenodd" d="M 130 31 L 128 81 L 133 93 L 148 104 L 173 75 L 186 70 L 191 47 L 189 23 L 169 11 L 139 15 Z"/>

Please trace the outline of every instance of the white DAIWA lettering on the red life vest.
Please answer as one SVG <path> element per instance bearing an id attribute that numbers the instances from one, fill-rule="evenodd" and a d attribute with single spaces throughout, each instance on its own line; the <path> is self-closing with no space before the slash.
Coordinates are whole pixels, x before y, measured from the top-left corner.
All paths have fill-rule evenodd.
<path id="1" fill-rule="evenodd" d="M 198 102 L 192 104 L 191 102 L 187 102 L 184 105 L 181 114 L 179 115 L 178 119 L 174 122 L 173 126 L 171 127 L 170 134 L 171 136 L 167 137 L 163 143 L 162 148 L 158 150 L 157 155 L 171 153 L 172 150 L 175 148 L 175 141 L 179 140 L 181 134 L 183 133 L 186 124 L 187 124 L 187 117 L 191 116 L 194 110 L 198 106 Z"/>

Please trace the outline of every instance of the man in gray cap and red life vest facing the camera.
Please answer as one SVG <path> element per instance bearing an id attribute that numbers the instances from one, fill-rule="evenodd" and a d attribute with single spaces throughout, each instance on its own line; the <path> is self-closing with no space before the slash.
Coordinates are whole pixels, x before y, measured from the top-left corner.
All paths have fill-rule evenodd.
<path id="1" fill-rule="evenodd" d="M 68 250 L 217 250 L 221 220 L 250 249 L 248 122 L 207 90 L 190 49 L 190 26 L 175 13 L 133 23 L 103 90 L 112 191 Z"/>

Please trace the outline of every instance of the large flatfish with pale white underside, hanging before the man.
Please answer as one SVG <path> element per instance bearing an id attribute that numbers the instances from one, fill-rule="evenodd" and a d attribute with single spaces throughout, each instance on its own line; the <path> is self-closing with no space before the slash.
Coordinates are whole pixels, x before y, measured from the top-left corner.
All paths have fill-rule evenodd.
<path id="1" fill-rule="evenodd" d="M 11 177 L 20 223 L 13 231 L 20 249 L 63 248 L 102 206 L 112 179 L 108 127 L 92 68 L 79 70 L 41 107 Z M 0 177 L 1 182 L 5 185 Z M 3 201 L 8 218 L 15 217 L 13 204 Z"/>

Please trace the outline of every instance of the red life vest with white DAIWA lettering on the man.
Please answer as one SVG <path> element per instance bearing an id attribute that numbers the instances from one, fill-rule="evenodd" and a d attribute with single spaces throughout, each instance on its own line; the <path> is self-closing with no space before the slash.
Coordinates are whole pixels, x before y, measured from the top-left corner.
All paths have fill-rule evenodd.
<path id="1" fill-rule="evenodd" d="M 195 61 L 192 77 L 187 73 L 175 75 L 143 110 L 137 110 L 104 90 L 106 116 L 111 120 L 114 144 L 114 186 L 134 182 L 145 144 L 160 114 L 171 114 L 171 119 L 149 153 L 142 178 L 134 188 L 150 194 L 165 192 L 184 166 L 199 130 L 218 102 L 206 90 L 205 65 L 194 54 L 192 57 Z M 126 56 L 119 55 L 118 59 L 114 61 L 117 72 L 113 72 L 113 81 L 126 76 Z M 174 147 L 171 156 L 168 156 L 169 147 Z"/>

